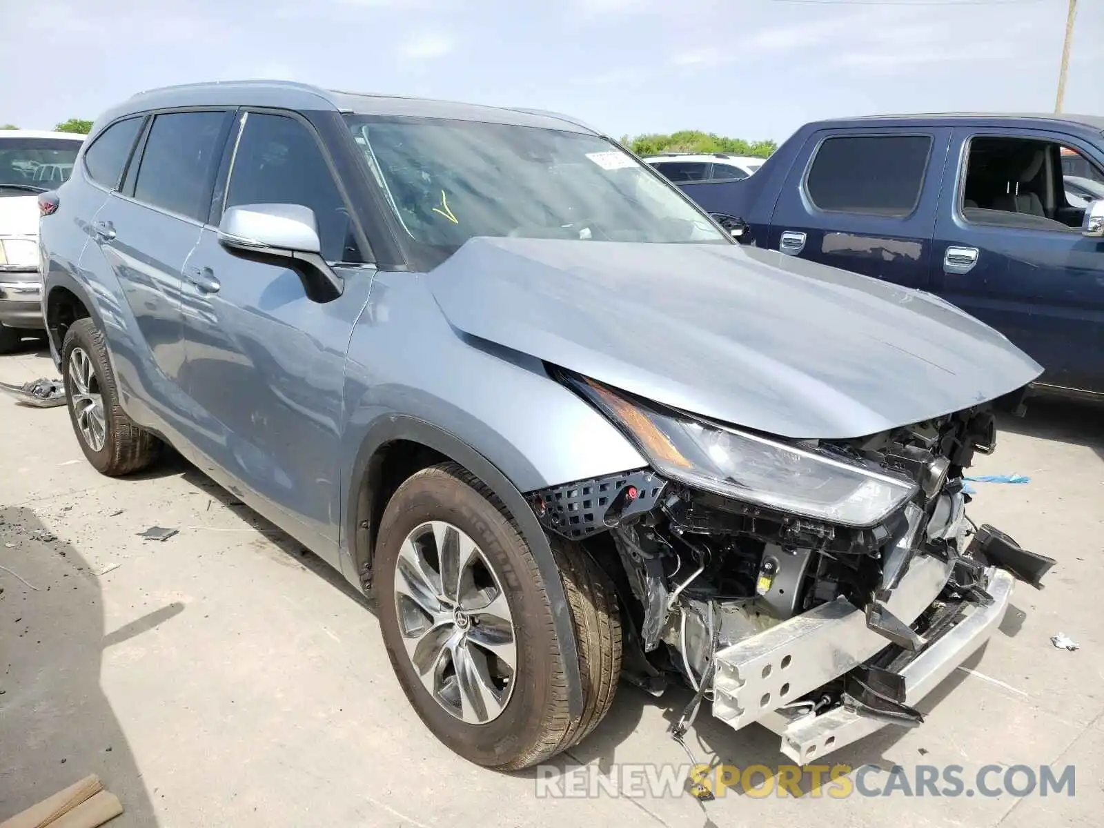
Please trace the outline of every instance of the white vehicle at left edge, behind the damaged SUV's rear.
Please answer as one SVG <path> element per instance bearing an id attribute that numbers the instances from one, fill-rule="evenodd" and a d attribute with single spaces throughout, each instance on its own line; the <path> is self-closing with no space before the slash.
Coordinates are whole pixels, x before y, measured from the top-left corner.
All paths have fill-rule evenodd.
<path id="1" fill-rule="evenodd" d="M 42 331 L 38 194 L 73 170 L 84 136 L 0 129 L 0 353 Z"/>

